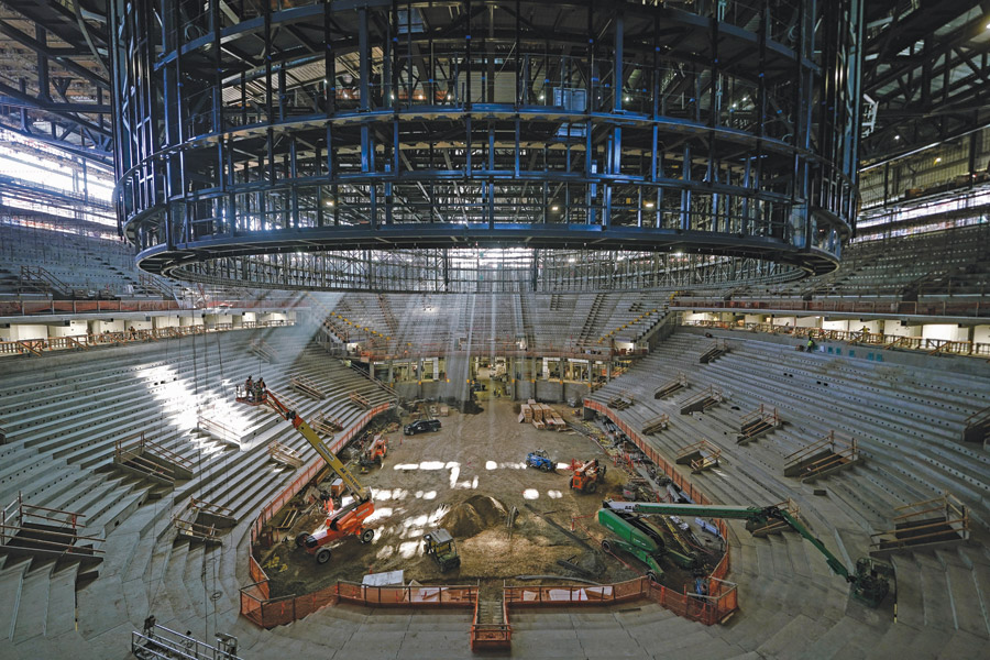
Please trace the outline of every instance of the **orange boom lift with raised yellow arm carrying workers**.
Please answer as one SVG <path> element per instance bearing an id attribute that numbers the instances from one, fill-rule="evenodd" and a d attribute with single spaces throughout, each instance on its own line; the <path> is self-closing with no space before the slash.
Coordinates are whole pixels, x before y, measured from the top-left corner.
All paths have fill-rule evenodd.
<path id="1" fill-rule="evenodd" d="M 344 487 L 351 494 L 352 501 L 346 505 L 330 512 L 327 515 L 326 527 L 315 534 L 302 532 L 296 537 L 296 546 L 304 548 L 309 554 L 316 556 L 317 563 L 327 563 L 330 561 L 330 543 L 343 539 L 348 536 L 358 537 L 362 543 L 370 543 L 375 538 L 375 530 L 364 526 L 364 521 L 375 510 L 375 503 L 372 502 L 371 491 L 361 484 L 358 479 L 351 474 L 343 461 L 330 451 L 330 448 L 323 443 L 323 440 L 317 435 L 312 428 L 306 424 L 295 410 L 285 406 L 270 391 L 238 392 L 237 402 L 249 406 L 267 406 L 275 411 L 276 415 L 290 422 L 299 433 L 320 454 L 320 458 L 327 462 L 327 465 L 337 473 L 343 482 Z"/>

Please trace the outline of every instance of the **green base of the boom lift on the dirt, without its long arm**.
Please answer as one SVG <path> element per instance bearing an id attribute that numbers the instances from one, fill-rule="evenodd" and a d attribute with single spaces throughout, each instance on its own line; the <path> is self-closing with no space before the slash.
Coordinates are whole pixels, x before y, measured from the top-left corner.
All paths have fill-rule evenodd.
<path id="1" fill-rule="evenodd" d="M 618 537 L 602 541 L 605 552 L 612 552 L 613 548 L 625 550 L 648 566 L 647 578 L 654 582 L 663 578 L 663 569 L 660 568 L 663 558 L 683 569 L 702 570 L 696 554 L 684 554 L 669 547 L 661 529 L 647 518 L 624 508 L 614 508 L 614 503 L 604 504 L 605 508 L 598 509 L 598 524 Z"/>

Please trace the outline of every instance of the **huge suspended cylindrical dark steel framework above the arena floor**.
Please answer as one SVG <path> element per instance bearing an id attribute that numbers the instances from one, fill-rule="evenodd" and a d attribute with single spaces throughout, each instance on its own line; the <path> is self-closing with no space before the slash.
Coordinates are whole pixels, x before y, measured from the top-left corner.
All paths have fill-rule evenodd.
<path id="1" fill-rule="evenodd" d="M 674 253 L 738 262 L 729 280 L 828 272 L 856 210 L 861 14 L 117 0 L 120 220 L 147 271 L 254 286 L 628 286 L 572 275 L 609 251 L 641 282 Z M 522 265 L 451 270 L 465 248 Z"/>

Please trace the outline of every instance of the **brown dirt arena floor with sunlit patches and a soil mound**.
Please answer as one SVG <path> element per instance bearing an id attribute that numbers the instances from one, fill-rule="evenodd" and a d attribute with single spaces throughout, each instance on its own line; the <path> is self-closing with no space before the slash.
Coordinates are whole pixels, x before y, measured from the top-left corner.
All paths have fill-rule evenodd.
<path id="1" fill-rule="evenodd" d="M 606 532 L 595 519 L 603 498 L 623 498 L 627 475 L 613 468 L 602 448 L 586 436 L 540 431 L 517 422 L 517 406 L 488 399 L 476 415 L 452 410 L 450 417 L 441 418 L 439 432 L 388 435 L 384 465 L 359 476 L 373 492 L 375 513 L 366 525 L 375 530 L 374 540 L 365 546 L 349 537 L 331 546 L 328 563 L 317 564 L 311 554 L 295 547 L 294 539 L 301 531 L 318 529 L 323 516 L 314 510 L 300 517 L 292 530 L 280 532 L 285 542 L 261 558 L 272 596 L 312 592 L 337 580 L 360 582 L 366 573 L 394 570 L 405 572 L 406 583 L 481 581 L 492 585 L 497 581 L 499 586 L 503 580 L 521 584 L 518 575 L 582 576 L 602 583 L 640 575 L 645 569 L 636 559 L 619 561 L 602 551 Z M 554 408 L 562 416 L 573 416 L 565 406 Z M 556 472 L 525 466 L 526 454 L 535 449 L 548 452 L 557 462 Z M 608 465 L 605 486 L 595 494 L 572 491 L 571 460 L 592 458 Z M 517 513 L 509 529 L 506 518 L 513 509 Z M 446 528 L 457 540 L 460 569 L 440 573 L 424 554 L 422 535 L 436 527 Z M 559 560 L 580 570 L 562 566 Z M 668 580 L 680 590 L 689 578 L 672 571 Z"/>

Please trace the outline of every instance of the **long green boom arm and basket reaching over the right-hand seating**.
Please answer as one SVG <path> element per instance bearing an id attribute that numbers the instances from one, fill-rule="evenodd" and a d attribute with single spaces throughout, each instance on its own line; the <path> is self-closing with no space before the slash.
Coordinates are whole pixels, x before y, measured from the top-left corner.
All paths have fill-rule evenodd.
<path id="1" fill-rule="evenodd" d="M 782 520 L 791 529 L 804 537 L 805 540 L 810 541 L 818 552 L 825 556 L 825 562 L 828 564 L 828 568 L 853 585 L 853 597 L 856 600 L 866 603 L 870 607 L 877 607 L 883 602 L 883 598 L 890 591 L 888 578 L 893 575 L 893 568 L 871 558 L 862 558 L 857 560 L 855 571 L 849 572 L 846 565 L 829 552 L 828 548 L 826 548 L 825 544 L 816 538 L 803 522 L 801 522 L 801 520 L 791 515 L 787 509 L 778 506 L 651 504 L 640 502 L 612 502 L 607 504 L 613 508 L 598 512 L 600 522 L 602 521 L 603 512 L 615 514 L 616 509 L 626 515 L 646 514 L 732 518 L 735 520 L 747 520 L 757 527 L 766 527 L 771 520 Z"/>

